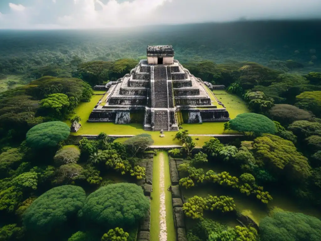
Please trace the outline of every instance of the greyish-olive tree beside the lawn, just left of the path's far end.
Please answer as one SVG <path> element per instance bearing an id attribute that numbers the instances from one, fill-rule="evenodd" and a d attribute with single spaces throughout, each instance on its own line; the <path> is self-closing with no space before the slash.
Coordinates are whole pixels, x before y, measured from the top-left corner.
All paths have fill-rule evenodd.
<path id="1" fill-rule="evenodd" d="M 149 134 L 139 134 L 128 138 L 124 141 L 124 145 L 126 146 L 126 150 L 132 155 L 136 156 L 137 153 L 143 153 L 147 147 L 152 145 L 154 140 L 152 136 Z"/>

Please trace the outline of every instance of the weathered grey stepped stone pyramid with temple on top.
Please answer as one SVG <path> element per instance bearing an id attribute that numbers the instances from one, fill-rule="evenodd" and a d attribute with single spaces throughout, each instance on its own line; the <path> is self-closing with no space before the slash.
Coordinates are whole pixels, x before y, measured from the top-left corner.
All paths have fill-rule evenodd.
<path id="1" fill-rule="evenodd" d="M 200 78 L 177 60 L 172 46 L 148 46 L 147 60 L 103 88 L 108 96 L 89 122 L 142 122 L 144 130 L 178 130 L 181 123 L 228 121 L 229 113 Z M 215 100 L 216 101 L 213 101 Z"/>

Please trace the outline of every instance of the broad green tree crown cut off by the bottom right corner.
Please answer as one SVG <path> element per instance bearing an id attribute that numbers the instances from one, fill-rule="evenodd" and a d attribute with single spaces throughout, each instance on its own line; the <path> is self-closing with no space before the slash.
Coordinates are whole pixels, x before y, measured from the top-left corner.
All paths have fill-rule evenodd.
<path id="1" fill-rule="evenodd" d="M 262 241 L 321 240 L 321 220 L 303 213 L 274 210 L 260 221 Z"/>

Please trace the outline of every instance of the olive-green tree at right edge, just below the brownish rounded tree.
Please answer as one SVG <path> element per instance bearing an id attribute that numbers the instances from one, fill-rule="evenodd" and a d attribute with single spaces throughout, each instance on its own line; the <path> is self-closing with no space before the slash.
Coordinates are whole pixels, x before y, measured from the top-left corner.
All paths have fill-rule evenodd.
<path id="1" fill-rule="evenodd" d="M 321 123 L 318 122 L 294 121 L 289 125 L 288 129 L 300 139 L 304 139 L 312 135 L 321 135 Z"/>

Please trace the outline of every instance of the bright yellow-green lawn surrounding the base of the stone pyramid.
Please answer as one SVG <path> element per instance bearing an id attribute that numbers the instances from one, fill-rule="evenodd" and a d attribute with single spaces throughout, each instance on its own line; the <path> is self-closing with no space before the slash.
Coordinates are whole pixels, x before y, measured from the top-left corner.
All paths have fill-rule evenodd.
<path id="1" fill-rule="evenodd" d="M 238 96 L 226 93 L 225 91 L 214 91 L 217 93 L 217 98 L 222 98 L 222 102 L 230 113 L 231 118 L 235 118 L 240 113 L 249 112 L 245 102 Z M 80 103 L 75 109 L 75 113 L 82 118 L 82 127 L 77 133 L 72 135 L 98 135 L 100 132 L 105 132 L 109 135 L 137 135 L 140 133 L 148 133 L 152 135 L 154 145 L 176 145 L 179 144 L 177 140 L 173 141 L 173 137 L 177 132 L 165 132 L 165 137 L 159 137 L 158 131 L 144 131 L 141 123 L 131 124 L 115 124 L 111 122 L 86 122 L 89 115 L 97 102 L 100 100 L 101 95 L 94 95 L 90 102 Z M 71 125 L 70 121 L 65 121 Z M 233 134 L 236 133 L 231 130 L 224 131 L 224 122 L 205 122 L 202 124 L 182 124 L 183 130 L 187 129 L 190 134 Z M 194 137 L 194 139 L 197 137 Z M 210 137 L 198 137 L 200 140 L 196 141 L 197 146 L 203 146 L 204 142 L 209 140 Z"/>

